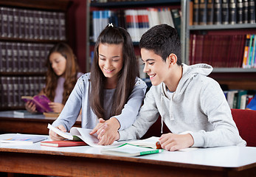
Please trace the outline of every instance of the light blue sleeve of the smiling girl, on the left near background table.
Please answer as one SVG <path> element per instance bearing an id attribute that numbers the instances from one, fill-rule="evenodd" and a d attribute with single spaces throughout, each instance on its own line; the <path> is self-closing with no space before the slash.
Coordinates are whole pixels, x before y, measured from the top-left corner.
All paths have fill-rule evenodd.
<path id="1" fill-rule="evenodd" d="M 87 81 L 83 77 L 84 76 L 77 80 L 77 83 L 69 95 L 69 99 L 66 101 L 66 104 L 58 119 L 52 123 L 54 127 L 63 125 L 66 128 L 66 131 L 69 131 L 70 128 L 72 128 L 72 125 L 75 124 L 75 121 L 77 120 L 77 117 L 80 113 L 80 108 L 82 106 L 83 84 Z"/>

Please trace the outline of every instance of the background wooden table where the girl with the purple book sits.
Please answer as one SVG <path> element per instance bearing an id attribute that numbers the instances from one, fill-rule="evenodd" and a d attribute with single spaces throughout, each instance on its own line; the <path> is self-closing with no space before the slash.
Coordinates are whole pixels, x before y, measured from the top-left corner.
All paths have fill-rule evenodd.
<path id="1" fill-rule="evenodd" d="M 48 123 L 52 124 L 56 117 L 45 117 L 44 114 L 30 114 L 17 116 L 13 111 L 0 111 L 0 133 L 32 133 L 48 134 Z M 76 127 L 81 126 L 81 122 L 75 123 Z"/>

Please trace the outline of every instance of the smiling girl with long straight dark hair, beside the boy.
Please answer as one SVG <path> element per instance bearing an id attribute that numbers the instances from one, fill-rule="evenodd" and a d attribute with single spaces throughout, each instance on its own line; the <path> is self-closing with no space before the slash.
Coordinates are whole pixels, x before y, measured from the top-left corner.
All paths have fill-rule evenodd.
<path id="1" fill-rule="evenodd" d="M 97 38 L 91 73 L 77 80 L 63 111 L 52 125 L 69 131 L 81 109 L 82 128 L 104 125 L 99 144 L 112 144 L 117 131 L 133 124 L 142 105 L 147 86 L 138 74 L 131 36 L 123 28 L 108 24 Z M 104 124 L 99 123 L 100 120 L 104 120 Z M 53 131 L 49 131 L 49 135 L 52 140 L 63 139 Z"/>

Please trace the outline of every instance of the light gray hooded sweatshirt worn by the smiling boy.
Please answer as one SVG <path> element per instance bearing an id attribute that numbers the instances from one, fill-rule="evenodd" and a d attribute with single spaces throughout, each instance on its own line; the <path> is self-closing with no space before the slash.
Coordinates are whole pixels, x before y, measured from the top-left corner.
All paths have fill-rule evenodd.
<path id="1" fill-rule="evenodd" d="M 160 115 L 172 133 L 188 131 L 194 139 L 193 147 L 245 146 L 221 87 L 207 77 L 212 66 L 183 63 L 182 68 L 172 97 L 168 96 L 165 83 L 152 86 L 134 125 L 120 131 L 120 140 L 141 138 Z"/>

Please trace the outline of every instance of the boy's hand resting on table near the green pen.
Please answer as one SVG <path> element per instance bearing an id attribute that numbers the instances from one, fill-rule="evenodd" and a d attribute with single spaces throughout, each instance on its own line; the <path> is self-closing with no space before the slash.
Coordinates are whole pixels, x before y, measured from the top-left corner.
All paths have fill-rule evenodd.
<path id="1" fill-rule="evenodd" d="M 159 138 L 160 145 L 165 150 L 181 150 L 187 147 L 190 147 L 194 144 L 193 137 L 188 134 L 173 134 L 166 133 L 162 134 Z"/>

